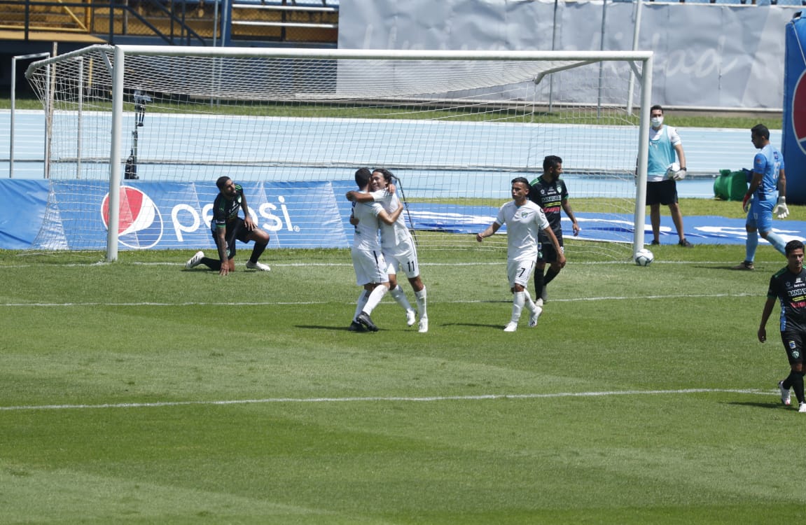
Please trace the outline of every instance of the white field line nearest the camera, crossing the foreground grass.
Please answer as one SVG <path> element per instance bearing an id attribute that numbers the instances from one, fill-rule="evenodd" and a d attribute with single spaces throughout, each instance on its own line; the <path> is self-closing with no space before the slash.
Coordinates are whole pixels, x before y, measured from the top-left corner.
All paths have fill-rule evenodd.
<path id="1" fill-rule="evenodd" d="M 777 390 L 776 390 L 777 392 Z M 437 395 L 430 397 L 345 397 L 345 398 L 267 398 L 267 399 L 230 399 L 220 401 L 160 401 L 154 403 L 102 403 L 96 405 L 64 404 L 64 405 L 27 405 L 18 407 L 0 407 L 0 411 L 34 411 L 34 410 L 76 410 L 96 408 L 153 408 L 153 407 L 186 407 L 194 405 L 246 405 L 266 403 L 434 403 L 439 401 L 486 401 L 490 399 L 552 399 L 571 397 L 605 397 L 611 395 L 686 395 L 686 394 L 752 394 L 771 395 L 771 391 L 758 389 L 720 389 L 720 388 L 686 388 L 683 390 L 655 391 L 604 391 L 604 392 L 557 392 L 554 394 L 488 394 L 488 395 Z"/>

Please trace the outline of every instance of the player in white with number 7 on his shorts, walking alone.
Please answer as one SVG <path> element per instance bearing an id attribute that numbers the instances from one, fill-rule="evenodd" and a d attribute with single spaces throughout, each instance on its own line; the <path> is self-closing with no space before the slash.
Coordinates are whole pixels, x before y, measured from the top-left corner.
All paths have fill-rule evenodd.
<path id="1" fill-rule="evenodd" d="M 507 276 L 513 293 L 513 303 L 512 317 L 504 328 L 505 332 L 517 330 L 517 322 L 521 319 L 524 307 L 530 313 L 529 326 L 534 328 L 538 325 L 542 308 L 534 304 L 526 290 L 526 284 L 529 283 L 534 262 L 538 258 L 538 233 L 541 230 L 554 246 L 560 267 L 565 266 L 565 254 L 560 249 L 557 236 L 540 206 L 529 200 L 528 195 L 529 180 L 525 177 L 513 179 L 513 200 L 501 206 L 496 220 L 488 229 L 476 234 L 476 241 L 481 242 L 485 237 L 495 234 L 502 225 L 507 228 Z"/>

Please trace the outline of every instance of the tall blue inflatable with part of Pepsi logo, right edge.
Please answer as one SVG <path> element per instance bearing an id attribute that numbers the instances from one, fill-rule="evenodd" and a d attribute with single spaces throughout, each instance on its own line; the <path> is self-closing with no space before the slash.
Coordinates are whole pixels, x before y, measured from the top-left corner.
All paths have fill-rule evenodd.
<path id="1" fill-rule="evenodd" d="M 783 64 L 781 152 L 786 163 L 787 202 L 806 204 L 806 20 L 800 12 L 787 23 Z"/>

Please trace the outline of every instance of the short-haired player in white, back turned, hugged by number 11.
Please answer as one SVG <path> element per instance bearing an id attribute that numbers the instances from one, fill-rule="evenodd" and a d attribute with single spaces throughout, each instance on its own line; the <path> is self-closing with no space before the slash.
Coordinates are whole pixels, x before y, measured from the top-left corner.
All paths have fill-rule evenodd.
<path id="1" fill-rule="evenodd" d="M 366 191 L 370 176 L 368 168 L 359 169 L 355 172 L 355 184 L 362 191 Z M 353 332 L 363 329 L 371 332 L 378 331 L 370 314 L 389 289 L 387 265 L 378 242 L 378 220 L 391 224 L 397 221 L 400 213 L 397 211 L 389 215 L 377 203 L 356 203 L 353 206 L 350 223 L 355 227 L 355 232 L 351 256 L 355 268 L 355 283 L 364 287 L 356 301 L 355 314 L 349 328 Z"/>

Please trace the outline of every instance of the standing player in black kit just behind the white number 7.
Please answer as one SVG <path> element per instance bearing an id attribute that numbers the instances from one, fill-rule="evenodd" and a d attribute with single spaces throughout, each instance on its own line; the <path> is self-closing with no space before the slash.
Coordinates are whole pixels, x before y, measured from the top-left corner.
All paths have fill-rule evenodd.
<path id="1" fill-rule="evenodd" d="M 571 211 L 571 205 L 568 204 L 568 189 L 565 186 L 565 182 L 560 179 L 561 175 L 563 175 L 563 159 L 560 159 L 557 155 L 548 155 L 543 159 L 542 176 L 531 182 L 529 191 L 529 198 L 540 206 L 543 213 L 546 214 L 546 219 L 548 219 L 549 225 L 559 241 L 560 250 L 563 249 L 563 226 L 560 225 L 560 209 L 563 209 L 568 218 L 571 219 L 574 236 L 580 234 L 580 225 L 574 217 L 574 212 Z M 544 276 L 543 272 L 546 271 L 546 263 L 551 266 Z M 540 232 L 540 238 L 538 238 L 538 262 L 534 267 L 534 296 L 537 298 L 535 302 L 538 306 L 542 306 L 546 302 L 546 285 L 562 269 L 563 267 L 558 262 L 554 246 L 549 242 L 546 234 Z"/>

